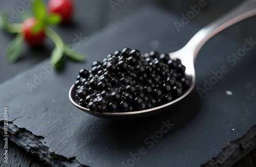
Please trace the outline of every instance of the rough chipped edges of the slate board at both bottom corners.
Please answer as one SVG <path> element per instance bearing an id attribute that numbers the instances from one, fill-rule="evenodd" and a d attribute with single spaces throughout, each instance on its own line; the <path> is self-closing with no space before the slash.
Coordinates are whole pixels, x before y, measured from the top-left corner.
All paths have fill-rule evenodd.
<path id="1" fill-rule="evenodd" d="M 8 124 L 10 127 L 9 138 L 12 142 L 25 149 L 27 152 L 38 156 L 42 161 L 47 162 L 51 166 L 87 167 L 86 165 L 80 164 L 75 157 L 66 158 L 49 152 L 44 137 L 36 136 L 25 128 L 18 128 L 12 122 Z M 0 122 L 0 128 L 1 135 L 3 135 L 3 121 Z M 222 152 L 220 152 L 218 156 L 212 157 L 212 159 L 205 164 L 202 164 L 201 167 L 232 166 L 254 148 L 256 148 L 256 125 L 252 126 L 242 137 L 230 142 L 227 147 L 222 149 Z"/>

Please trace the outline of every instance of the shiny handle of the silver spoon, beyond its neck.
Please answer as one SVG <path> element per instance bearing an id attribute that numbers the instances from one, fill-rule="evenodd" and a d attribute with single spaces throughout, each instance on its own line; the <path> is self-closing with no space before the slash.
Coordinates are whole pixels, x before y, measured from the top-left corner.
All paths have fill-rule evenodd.
<path id="1" fill-rule="evenodd" d="M 244 1 L 227 14 L 203 27 L 188 41 L 185 47 L 194 50 L 196 57 L 199 50 L 211 37 L 214 37 L 227 27 L 254 15 L 256 15 L 256 0 Z"/>

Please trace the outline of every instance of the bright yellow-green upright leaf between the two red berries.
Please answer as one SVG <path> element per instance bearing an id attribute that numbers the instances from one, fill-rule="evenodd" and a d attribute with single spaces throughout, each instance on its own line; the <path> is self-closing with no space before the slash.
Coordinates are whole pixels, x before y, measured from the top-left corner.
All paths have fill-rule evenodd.
<path id="1" fill-rule="evenodd" d="M 35 0 L 33 3 L 33 13 L 35 18 L 44 21 L 47 17 L 47 10 L 45 4 L 40 0 Z"/>

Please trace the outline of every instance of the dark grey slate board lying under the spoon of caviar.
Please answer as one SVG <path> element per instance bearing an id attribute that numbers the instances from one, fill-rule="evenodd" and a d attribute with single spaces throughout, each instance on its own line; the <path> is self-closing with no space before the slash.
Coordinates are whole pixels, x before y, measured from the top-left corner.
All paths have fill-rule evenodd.
<path id="1" fill-rule="evenodd" d="M 88 38 L 77 47 L 86 54 L 86 63 L 67 62 L 63 72 L 47 74 L 32 93 L 27 83 L 33 83 L 35 76 L 45 71 L 49 60 L 4 82 L 0 86 L 0 108 L 9 107 L 10 139 L 53 166 L 122 166 L 127 160 L 135 162 L 130 153 L 138 153 L 141 147 L 146 153 L 134 166 L 199 166 L 217 156 L 256 124 L 255 49 L 231 66 L 228 55 L 243 45 L 221 34 L 198 55 L 195 90 L 164 113 L 139 120 L 105 120 L 84 114 L 68 99 L 78 71 L 90 68 L 93 61 L 102 60 L 116 49 L 131 47 L 147 52 L 155 49 L 151 47 L 153 40 L 159 41 L 157 50 L 161 52 L 181 48 L 199 27 L 189 23 L 178 33 L 174 21 L 179 19 L 156 8 L 141 9 Z M 214 76 L 212 70 L 220 70 L 223 65 L 229 72 L 200 98 L 196 89 L 203 88 L 204 79 L 209 80 Z M 226 91 L 233 95 L 226 95 Z M 0 120 L 3 123 L 3 115 Z M 163 122 L 175 125 L 158 141 L 145 143 L 150 141 L 147 137 L 161 130 Z"/>

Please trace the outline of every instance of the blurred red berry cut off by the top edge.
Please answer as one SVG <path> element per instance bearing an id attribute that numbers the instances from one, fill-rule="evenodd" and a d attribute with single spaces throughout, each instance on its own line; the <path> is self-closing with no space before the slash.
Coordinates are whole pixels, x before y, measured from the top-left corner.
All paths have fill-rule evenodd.
<path id="1" fill-rule="evenodd" d="M 70 0 L 50 0 L 48 3 L 49 13 L 59 13 L 62 16 L 62 22 L 70 21 L 73 8 Z"/>

